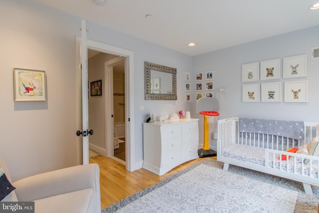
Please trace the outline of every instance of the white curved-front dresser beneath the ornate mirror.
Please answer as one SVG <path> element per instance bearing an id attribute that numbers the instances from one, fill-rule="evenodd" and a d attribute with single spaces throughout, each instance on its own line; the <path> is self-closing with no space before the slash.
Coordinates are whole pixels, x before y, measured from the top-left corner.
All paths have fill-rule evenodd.
<path id="1" fill-rule="evenodd" d="M 198 119 L 143 123 L 143 168 L 163 175 L 198 158 Z"/>

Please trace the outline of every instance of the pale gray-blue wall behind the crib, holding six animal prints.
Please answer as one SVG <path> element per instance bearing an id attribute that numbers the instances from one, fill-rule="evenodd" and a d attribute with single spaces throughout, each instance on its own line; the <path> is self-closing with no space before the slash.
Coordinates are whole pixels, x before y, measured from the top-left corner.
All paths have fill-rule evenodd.
<path id="1" fill-rule="evenodd" d="M 311 48 L 319 46 L 319 26 L 262 39 L 193 57 L 193 71 L 214 70 L 214 87 L 226 88 L 216 92 L 219 118 L 252 117 L 282 120 L 319 121 L 319 60 L 311 60 Z M 246 63 L 308 54 L 307 77 L 281 78 L 248 83 L 308 80 L 308 103 L 242 102 L 241 65 Z M 246 84 L 246 82 L 245 82 Z M 283 93 L 282 93 L 283 94 Z M 200 122 L 201 124 L 201 122 Z M 212 144 L 211 144 L 212 145 Z M 212 145 L 215 146 L 215 145 Z"/>

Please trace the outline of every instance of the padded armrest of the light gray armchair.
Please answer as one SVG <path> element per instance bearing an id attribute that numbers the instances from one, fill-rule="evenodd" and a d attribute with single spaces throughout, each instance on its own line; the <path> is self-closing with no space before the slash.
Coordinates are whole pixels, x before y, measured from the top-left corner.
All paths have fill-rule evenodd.
<path id="1" fill-rule="evenodd" d="M 92 188 L 100 200 L 100 168 L 86 164 L 27 177 L 12 183 L 18 201 L 34 201 Z"/>

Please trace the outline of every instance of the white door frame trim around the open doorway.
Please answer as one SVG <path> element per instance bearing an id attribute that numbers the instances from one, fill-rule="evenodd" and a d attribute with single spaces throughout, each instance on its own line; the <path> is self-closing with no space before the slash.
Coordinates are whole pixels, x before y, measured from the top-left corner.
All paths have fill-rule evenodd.
<path id="1" fill-rule="evenodd" d="M 80 39 L 81 38 L 78 38 Z M 104 52 L 108 54 L 125 56 L 125 115 L 127 121 L 125 122 L 125 135 L 126 135 L 126 170 L 132 172 L 134 170 L 133 163 L 135 159 L 135 135 L 134 135 L 134 52 L 122 49 L 116 46 L 112 46 L 109 44 L 93 41 L 87 39 L 87 48 L 96 50 L 99 52 Z M 107 94 L 107 93 L 105 93 Z M 108 107 L 109 108 L 109 107 Z M 108 111 L 106 111 L 109 113 Z M 107 116 L 111 116 L 111 114 L 106 114 Z M 110 125 L 113 127 L 113 119 L 106 119 L 106 126 Z M 109 128 L 110 129 L 110 128 Z M 113 130 L 113 128 L 112 128 Z M 113 133 L 112 133 L 113 138 Z M 109 149 L 109 147 L 107 147 Z"/>

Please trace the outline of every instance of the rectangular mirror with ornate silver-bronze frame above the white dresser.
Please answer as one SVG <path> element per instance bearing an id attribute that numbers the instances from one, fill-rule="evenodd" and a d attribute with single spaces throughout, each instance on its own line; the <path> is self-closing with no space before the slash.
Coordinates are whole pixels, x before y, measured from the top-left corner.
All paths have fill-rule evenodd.
<path id="1" fill-rule="evenodd" d="M 145 100 L 177 100 L 176 68 L 144 62 Z"/>

